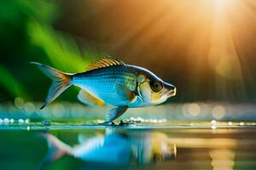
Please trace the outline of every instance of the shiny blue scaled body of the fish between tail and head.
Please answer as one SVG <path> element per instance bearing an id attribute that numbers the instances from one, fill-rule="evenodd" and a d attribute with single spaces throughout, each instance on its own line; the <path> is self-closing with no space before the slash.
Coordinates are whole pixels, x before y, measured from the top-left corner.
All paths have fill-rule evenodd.
<path id="1" fill-rule="evenodd" d="M 134 91 L 136 89 L 136 74 L 126 65 L 101 68 L 94 71 L 78 73 L 73 75 L 73 84 L 86 89 L 96 97 L 107 101 L 108 105 L 128 105 L 129 100 L 119 101 L 118 89 L 114 88 L 119 82 L 126 88 Z"/>

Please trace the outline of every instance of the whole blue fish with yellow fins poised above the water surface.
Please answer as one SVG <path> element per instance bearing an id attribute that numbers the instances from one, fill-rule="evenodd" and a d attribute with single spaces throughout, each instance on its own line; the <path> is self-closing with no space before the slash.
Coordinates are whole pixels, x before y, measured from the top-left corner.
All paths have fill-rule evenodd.
<path id="1" fill-rule="evenodd" d="M 174 85 L 164 82 L 143 67 L 126 65 L 119 59 L 103 57 L 90 64 L 84 72 L 66 73 L 48 65 L 31 62 L 52 80 L 43 109 L 70 86 L 80 89 L 78 99 L 91 106 L 112 105 L 106 123 L 113 122 L 128 108 L 160 105 L 175 96 Z"/>

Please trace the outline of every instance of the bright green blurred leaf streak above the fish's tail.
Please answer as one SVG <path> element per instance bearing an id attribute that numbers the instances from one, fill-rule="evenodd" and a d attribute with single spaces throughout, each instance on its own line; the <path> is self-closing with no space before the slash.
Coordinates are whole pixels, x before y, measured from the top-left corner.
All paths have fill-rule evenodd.
<path id="1" fill-rule="evenodd" d="M 55 32 L 49 26 L 42 26 L 36 21 L 28 23 L 28 35 L 32 43 L 42 48 L 53 66 L 66 71 L 83 71 L 85 62 L 72 37 Z M 86 57 L 91 57 L 86 56 Z"/>

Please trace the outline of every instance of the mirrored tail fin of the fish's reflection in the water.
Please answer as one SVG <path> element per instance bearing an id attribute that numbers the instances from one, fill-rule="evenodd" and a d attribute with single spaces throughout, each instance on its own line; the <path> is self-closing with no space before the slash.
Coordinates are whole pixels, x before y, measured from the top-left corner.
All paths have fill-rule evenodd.
<path id="1" fill-rule="evenodd" d="M 72 148 L 60 139 L 57 139 L 53 134 L 39 133 L 39 136 L 47 140 L 49 151 L 43 161 L 41 161 L 38 169 L 44 169 L 47 164 L 72 154 Z"/>

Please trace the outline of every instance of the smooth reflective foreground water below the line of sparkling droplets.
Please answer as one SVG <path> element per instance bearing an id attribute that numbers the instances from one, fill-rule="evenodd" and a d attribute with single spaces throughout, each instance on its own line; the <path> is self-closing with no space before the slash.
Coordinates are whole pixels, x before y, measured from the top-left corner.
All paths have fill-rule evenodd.
<path id="1" fill-rule="evenodd" d="M 256 168 L 253 122 L 14 122 L 0 128 L 1 169 Z M 73 152 L 45 161 L 54 151 L 43 132 L 73 147 Z"/>

